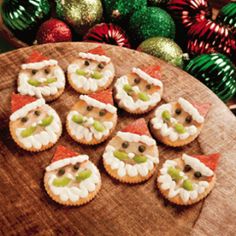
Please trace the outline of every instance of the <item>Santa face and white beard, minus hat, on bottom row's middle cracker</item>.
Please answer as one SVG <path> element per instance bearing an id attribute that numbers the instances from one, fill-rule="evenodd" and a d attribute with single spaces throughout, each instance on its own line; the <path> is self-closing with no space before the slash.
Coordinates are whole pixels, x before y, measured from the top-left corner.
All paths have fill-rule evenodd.
<path id="1" fill-rule="evenodd" d="M 119 177 L 145 177 L 159 163 L 158 149 L 147 135 L 118 132 L 107 145 L 103 160 Z"/>

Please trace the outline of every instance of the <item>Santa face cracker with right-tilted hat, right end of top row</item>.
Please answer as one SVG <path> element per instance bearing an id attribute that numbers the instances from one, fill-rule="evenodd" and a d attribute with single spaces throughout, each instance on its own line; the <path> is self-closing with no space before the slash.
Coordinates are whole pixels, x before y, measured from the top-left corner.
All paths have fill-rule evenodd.
<path id="1" fill-rule="evenodd" d="M 132 73 L 117 79 L 115 100 L 129 113 L 143 114 L 153 109 L 161 100 L 163 84 L 159 80 L 160 67 L 133 68 Z"/>

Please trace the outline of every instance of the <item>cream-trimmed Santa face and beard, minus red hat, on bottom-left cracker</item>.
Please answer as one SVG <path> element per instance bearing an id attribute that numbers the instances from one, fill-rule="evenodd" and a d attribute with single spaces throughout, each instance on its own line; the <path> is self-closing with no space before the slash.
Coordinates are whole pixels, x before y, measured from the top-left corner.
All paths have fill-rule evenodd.
<path id="1" fill-rule="evenodd" d="M 86 198 L 101 184 L 100 173 L 87 155 L 53 162 L 46 168 L 45 178 L 50 191 L 62 202 Z"/>

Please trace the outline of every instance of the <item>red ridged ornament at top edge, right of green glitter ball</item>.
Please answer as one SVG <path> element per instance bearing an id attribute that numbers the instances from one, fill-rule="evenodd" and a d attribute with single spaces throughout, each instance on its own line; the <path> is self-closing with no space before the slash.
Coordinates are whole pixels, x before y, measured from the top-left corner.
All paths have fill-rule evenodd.
<path id="1" fill-rule="evenodd" d="M 196 21 L 210 19 L 212 14 L 207 0 L 171 0 L 168 10 L 171 16 L 186 28 Z"/>

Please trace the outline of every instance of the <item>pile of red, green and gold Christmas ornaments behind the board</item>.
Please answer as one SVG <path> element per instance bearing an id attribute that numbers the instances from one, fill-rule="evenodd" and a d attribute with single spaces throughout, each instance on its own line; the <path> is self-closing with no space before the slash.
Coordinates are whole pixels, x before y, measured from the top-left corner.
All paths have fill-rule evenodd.
<path id="1" fill-rule="evenodd" d="M 186 70 L 224 102 L 235 103 L 235 1 L 0 2 L 1 52 L 32 44 L 64 41 L 99 42 L 132 48 Z"/>

